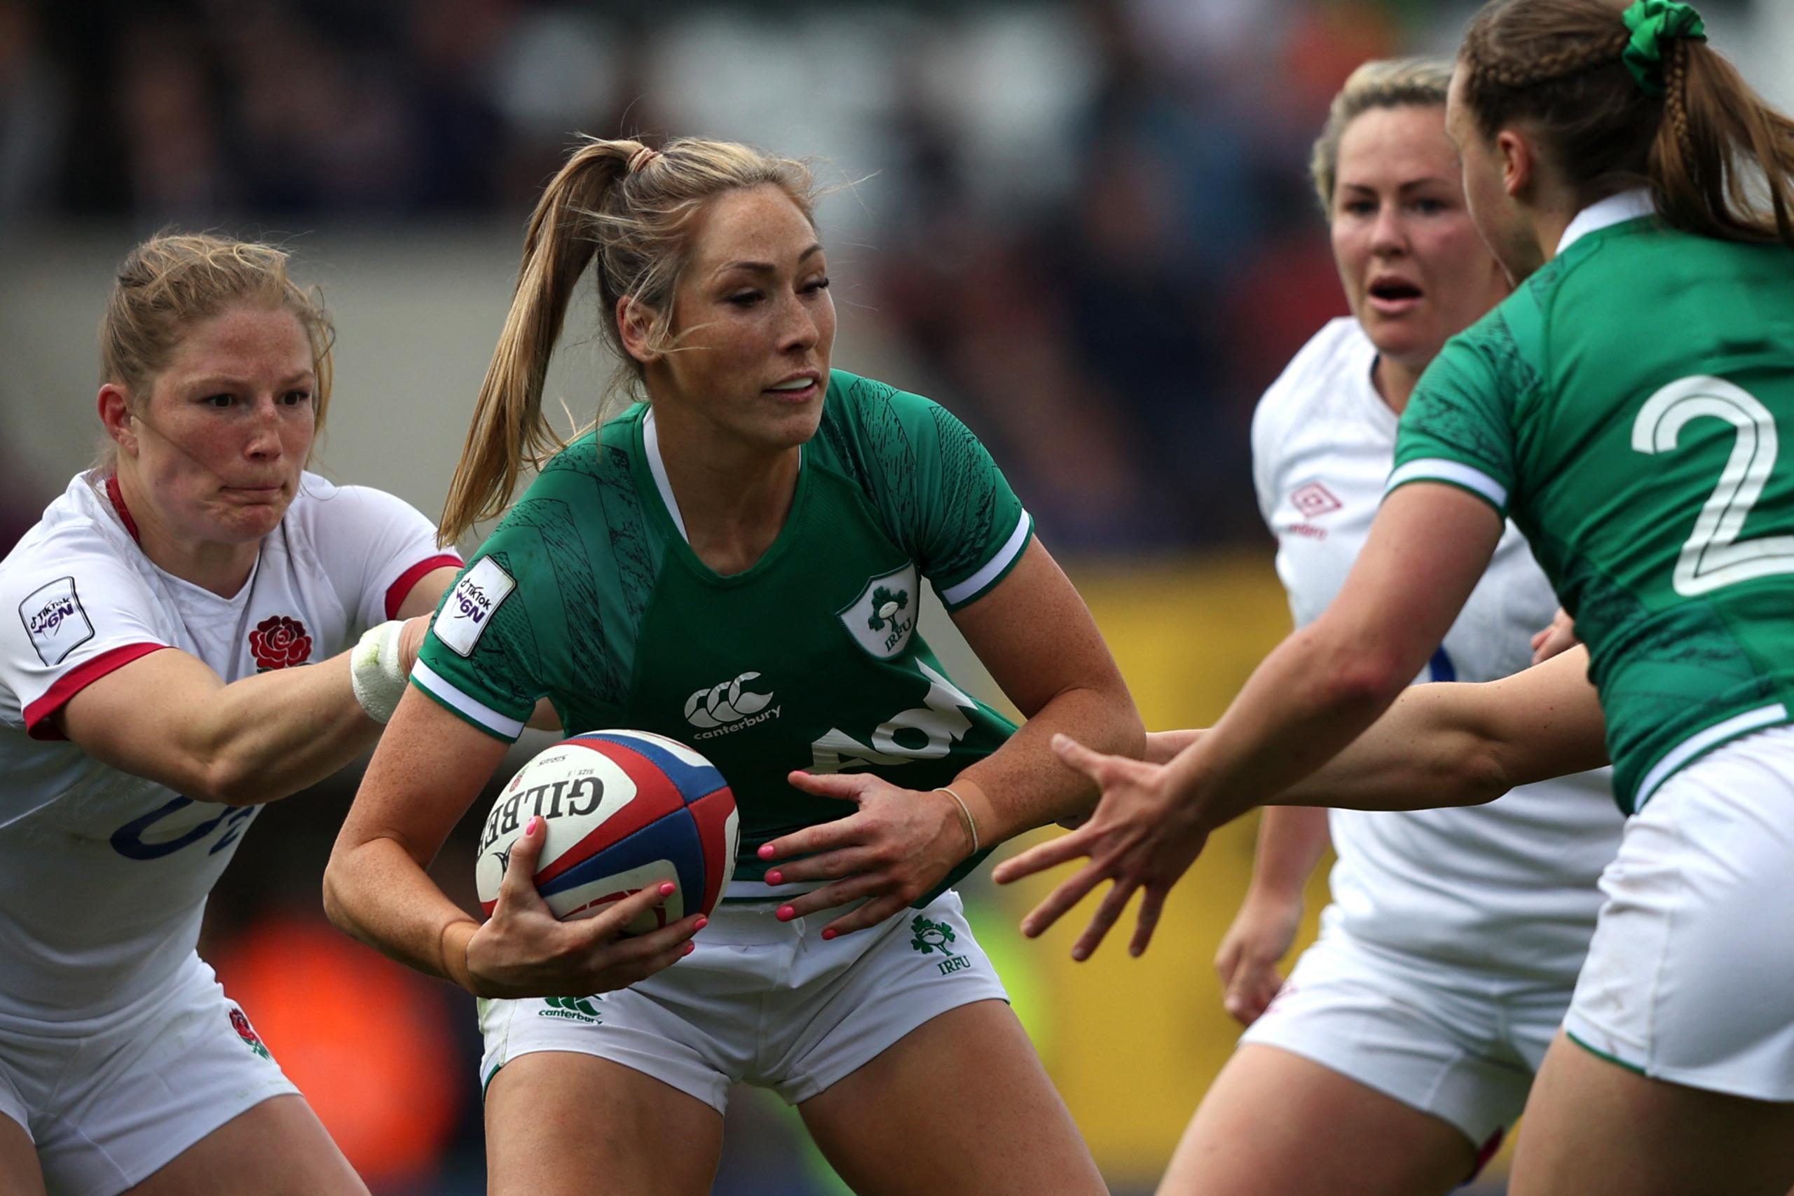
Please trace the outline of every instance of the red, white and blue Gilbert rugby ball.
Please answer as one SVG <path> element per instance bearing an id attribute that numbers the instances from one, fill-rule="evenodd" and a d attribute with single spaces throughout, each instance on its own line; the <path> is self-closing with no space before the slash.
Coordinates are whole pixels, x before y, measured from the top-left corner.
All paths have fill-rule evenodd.
<path id="1" fill-rule="evenodd" d="M 691 748 L 649 732 L 588 732 L 545 748 L 499 793 L 479 837 L 488 914 L 533 816 L 547 823 L 536 891 L 556 918 L 590 918 L 648 886 L 678 886 L 631 934 L 710 913 L 736 871 L 736 796 Z"/>

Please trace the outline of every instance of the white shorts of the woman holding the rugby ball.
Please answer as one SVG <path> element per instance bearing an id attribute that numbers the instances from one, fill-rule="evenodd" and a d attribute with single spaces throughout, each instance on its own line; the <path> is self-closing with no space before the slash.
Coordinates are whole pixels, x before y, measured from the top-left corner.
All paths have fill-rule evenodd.
<path id="1" fill-rule="evenodd" d="M 764 891 L 736 882 L 730 895 Z M 823 940 L 825 909 L 779 922 L 782 898 L 723 900 L 673 966 L 596 997 L 481 1001 L 481 1087 L 531 1051 L 596 1054 L 723 1112 L 732 1083 L 797 1105 L 947 1010 L 1008 1001 L 958 893 Z"/>

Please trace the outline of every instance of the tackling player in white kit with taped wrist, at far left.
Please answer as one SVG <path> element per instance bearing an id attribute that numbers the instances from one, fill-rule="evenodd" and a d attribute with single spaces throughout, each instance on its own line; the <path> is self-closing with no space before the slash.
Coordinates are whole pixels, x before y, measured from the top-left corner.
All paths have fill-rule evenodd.
<path id="1" fill-rule="evenodd" d="M 398 620 L 459 565 L 405 502 L 305 472 L 332 330 L 285 256 L 131 251 L 106 455 L 0 563 L 7 1196 L 366 1191 L 194 952 L 260 805 L 373 742 Z"/>

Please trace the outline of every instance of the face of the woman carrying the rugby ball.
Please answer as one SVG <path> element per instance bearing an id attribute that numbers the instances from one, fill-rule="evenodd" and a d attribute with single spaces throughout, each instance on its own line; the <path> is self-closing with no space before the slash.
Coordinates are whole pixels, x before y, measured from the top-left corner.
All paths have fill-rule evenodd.
<path id="1" fill-rule="evenodd" d="M 766 448 L 816 434 L 834 301 L 816 230 L 780 188 L 709 201 L 673 299 L 673 335 L 678 350 L 649 368 L 657 405 L 678 403 Z"/>

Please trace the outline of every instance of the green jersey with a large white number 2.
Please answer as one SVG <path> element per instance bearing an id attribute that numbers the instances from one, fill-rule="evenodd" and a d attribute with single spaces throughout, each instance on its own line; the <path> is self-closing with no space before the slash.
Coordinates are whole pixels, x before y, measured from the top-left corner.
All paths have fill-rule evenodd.
<path id="1" fill-rule="evenodd" d="M 1389 479 L 1512 515 L 1575 615 L 1620 809 L 1794 701 L 1794 251 L 1582 212 L 1426 369 Z"/>

